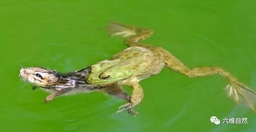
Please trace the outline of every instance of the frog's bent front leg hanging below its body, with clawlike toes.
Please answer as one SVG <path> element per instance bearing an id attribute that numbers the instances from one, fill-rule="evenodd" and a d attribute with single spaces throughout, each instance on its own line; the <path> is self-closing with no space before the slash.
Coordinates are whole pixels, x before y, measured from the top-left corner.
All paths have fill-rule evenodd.
<path id="1" fill-rule="evenodd" d="M 144 96 L 143 89 L 140 86 L 140 84 L 137 82 L 136 78 L 131 79 L 131 80 L 122 81 L 122 82 L 120 82 L 120 85 L 128 85 L 133 88 L 133 91 L 132 91 L 130 103 L 121 105 L 119 108 L 120 109 L 123 108 L 123 109 L 118 110 L 117 112 L 122 112 L 124 110 L 131 109 L 131 108 L 135 107 L 136 105 L 138 105 L 142 101 L 143 96 Z"/>

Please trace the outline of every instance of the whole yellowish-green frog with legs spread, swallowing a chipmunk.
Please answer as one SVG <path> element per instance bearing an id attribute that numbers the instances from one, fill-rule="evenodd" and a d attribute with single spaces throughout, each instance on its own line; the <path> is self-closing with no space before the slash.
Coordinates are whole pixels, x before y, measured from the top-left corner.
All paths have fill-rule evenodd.
<path id="1" fill-rule="evenodd" d="M 159 73 L 164 66 L 191 78 L 219 73 L 229 81 L 225 89 L 228 92 L 228 97 L 233 97 L 237 105 L 241 100 L 245 101 L 255 112 L 256 92 L 220 67 L 195 67 L 189 69 L 163 48 L 139 43 L 139 41 L 148 38 L 153 33 L 148 29 L 110 23 L 107 30 L 111 36 L 126 38 L 125 44 L 129 48 L 118 52 L 111 60 L 104 60 L 92 65 L 91 73 L 86 77 L 86 81 L 93 84 L 117 81 L 120 85 L 133 87 L 131 102 L 122 105 L 120 108 L 123 109 L 118 112 L 138 105 L 143 98 L 143 90 L 138 81 Z"/>

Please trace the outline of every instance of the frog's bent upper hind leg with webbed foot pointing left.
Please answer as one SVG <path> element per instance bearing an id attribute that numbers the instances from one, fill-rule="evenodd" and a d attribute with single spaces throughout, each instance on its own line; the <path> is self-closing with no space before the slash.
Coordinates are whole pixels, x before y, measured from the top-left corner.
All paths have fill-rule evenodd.
<path id="1" fill-rule="evenodd" d="M 106 29 L 110 33 L 110 36 L 121 36 L 125 38 L 125 44 L 127 44 L 129 47 L 147 46 L 145 44 L 138 43 L 138 42 L 145 40 L 146 38 L 151 36 L 151 34 L 153 34 L 153 31 L 149 29 L 118 24 L 115 22 L 110 22 L 106 27 Z"/>

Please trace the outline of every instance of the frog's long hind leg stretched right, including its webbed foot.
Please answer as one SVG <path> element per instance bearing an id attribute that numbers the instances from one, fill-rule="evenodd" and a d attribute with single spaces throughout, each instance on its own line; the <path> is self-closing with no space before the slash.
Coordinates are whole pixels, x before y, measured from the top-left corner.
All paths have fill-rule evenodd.
<path id="1" fill-rule="evenodd" d="M 224 71 L 220 67 L 195 67 L 189 69 L 176 57 L 170 54 L 170 52 L 163 50 L 163 53 L 166 67 L 191 78 L 220 74 L 229 81 L 229 84 L 224 89 L 228 93 L 228 97 L 234 98 L 237 105 L 239 105 L 239 103 L 247 103 L 249 107 L 256 112 L 254 108 L 256 103 L 256 92 L 250 89 L 247 85 L 239 82 L 229 72 Z"/>

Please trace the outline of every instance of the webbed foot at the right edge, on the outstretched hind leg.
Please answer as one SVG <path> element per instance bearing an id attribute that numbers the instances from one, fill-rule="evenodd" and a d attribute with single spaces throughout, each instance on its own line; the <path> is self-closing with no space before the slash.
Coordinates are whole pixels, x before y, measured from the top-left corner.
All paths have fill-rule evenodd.
<path id="1" fill-rule="evenodd" d="M 238 81 L 230 82 L 224 89 L 228 98 L 234 98 L 237 105 L 245 103 L 254 111 L 254 105 L 256 103 L 256 92 L 250 89 L 247 85 L 240 83 Z"/>

